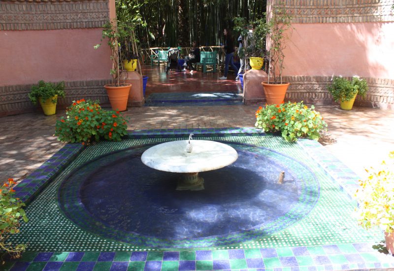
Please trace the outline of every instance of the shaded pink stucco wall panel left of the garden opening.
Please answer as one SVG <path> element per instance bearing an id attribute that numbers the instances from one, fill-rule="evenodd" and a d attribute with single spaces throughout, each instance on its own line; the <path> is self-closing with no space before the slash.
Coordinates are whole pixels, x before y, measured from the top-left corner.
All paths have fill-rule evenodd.
<path id="1" fill-rule="evenodd" d="M 110 49 L 94 49 L 101 29 L 0 32 L 0 86 L 110 79 Z"/>

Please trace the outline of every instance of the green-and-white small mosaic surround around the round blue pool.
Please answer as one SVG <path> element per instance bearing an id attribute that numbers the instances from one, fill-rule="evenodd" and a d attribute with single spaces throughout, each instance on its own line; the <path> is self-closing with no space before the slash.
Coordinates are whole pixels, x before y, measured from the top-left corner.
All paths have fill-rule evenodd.
<path id="1" fill-rule="evenodd" d="M 165 131 L 164 131 L 165 132 Z M 185 133 L 187 132 L 187 133 Z M 183 131 L 186 139 L 189 131 Z M 214 247 L 212 249 L 238 248 L 273 248 L 292 246 L 325 245 L 332 243 L 370 242 L 376 240 L 376 232 L 366 232 L 357 226 L 350 214 L 355 204 L 334 184 L 327 173 L 317 165 L 308 152 L 297 143 L 284 141 L 280 136 L 210 136 L 201 139 L 240 142 L 263 146 L 276 150 L 290 157 L 302 160 L 313 169 L 321 184 L 321 198 L 310 215 L 296 224 L 278 233 L 255 238 L 248 242 L 234 243 L 231 246 Z M 172 138 L 130 138 L 121 142 L 102 141 L 87 147 L 73 160 L 55 180 L 38 195 L 37 200 L 27 207 L 30 222 L 22 224 L 21 233 L 13 236 L 17 242 L 29 242 L 30 251 L 135 251 L 153 249 L 133 244 L 106 239 L 83 231 L 71 223 L 59 210 L 56 202 L 58 185 L 62 178 L 78 166 L 100 155 L 116 150 L 139 146 L 142 144 L 160 143 Z M 314 148 L 323 148 L 316 145 Z M 378 233 L 380 234 L 380 233 Z M 374 236 L 375 235 L 375 236 Z"/>

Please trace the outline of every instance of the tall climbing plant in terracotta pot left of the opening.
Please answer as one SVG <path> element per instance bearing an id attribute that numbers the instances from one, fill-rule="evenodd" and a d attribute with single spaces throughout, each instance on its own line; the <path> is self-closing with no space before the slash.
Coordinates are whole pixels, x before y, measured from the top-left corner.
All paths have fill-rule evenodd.
<path id="1" fill-rule="evenodd" d="M 121 35 L 118 32 L 118 21 L 108 21 L 103 25 L 102 39 L 108 40 L 108 46 L 111 48 L 112 68 L 110 74 L 112 75 L 112 84 L 105 85 L 107 90 L 109 102 L 114 110 L 125 111 L 127 109 L 127 101 L 129 99 L 129 92 L 131 84 L 121 83 L 120 77 L 122 72 L 122 47 L 120 44 Z M 102 41 L 101 39 L 101 41 Z M 97 44 L 95 48 L 101 45 Z"/>

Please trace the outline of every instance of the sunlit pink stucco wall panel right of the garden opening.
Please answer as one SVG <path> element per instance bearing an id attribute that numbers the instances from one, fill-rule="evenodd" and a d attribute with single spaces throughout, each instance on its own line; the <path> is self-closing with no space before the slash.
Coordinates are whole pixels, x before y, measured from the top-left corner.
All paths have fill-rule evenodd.
<path id="1" fill-rule="evenodd" d="M 284 75 L 394 78 L 394 23 L 292 26 Z"/>

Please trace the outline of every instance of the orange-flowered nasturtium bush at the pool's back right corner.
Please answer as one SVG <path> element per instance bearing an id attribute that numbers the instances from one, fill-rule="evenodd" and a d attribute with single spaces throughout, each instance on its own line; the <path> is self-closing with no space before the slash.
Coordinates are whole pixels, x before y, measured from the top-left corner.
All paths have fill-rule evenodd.
<path id="1" fill-rule="evenodd" d="M 318 140 L 326 122 L 315 106 L 308 107 L 303 102 L 287 102 L 260 106 L 256 111 L 256 127 L 265 132 L 281 132 L 286 141 L 296 141 L 298 137 Z"/>

